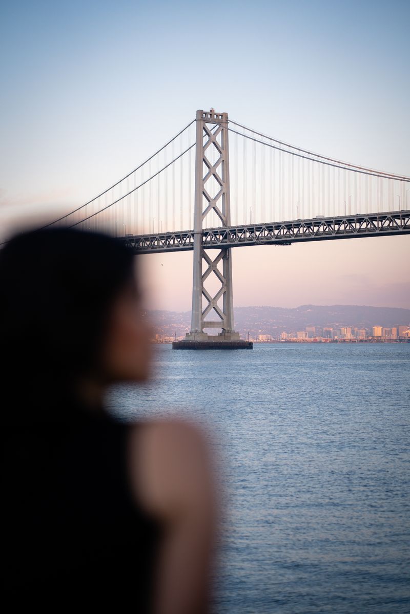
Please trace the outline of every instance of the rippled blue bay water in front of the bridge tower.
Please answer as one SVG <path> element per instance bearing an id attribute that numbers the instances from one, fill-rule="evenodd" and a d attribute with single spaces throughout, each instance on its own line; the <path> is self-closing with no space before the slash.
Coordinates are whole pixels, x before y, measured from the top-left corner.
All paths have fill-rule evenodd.
<path id="1" fill-rule="evenodd" d="M 120 419 L 202 424 L 224 492 L 215 613 L 410 612 L 410 344 L 153 346 Z"/>

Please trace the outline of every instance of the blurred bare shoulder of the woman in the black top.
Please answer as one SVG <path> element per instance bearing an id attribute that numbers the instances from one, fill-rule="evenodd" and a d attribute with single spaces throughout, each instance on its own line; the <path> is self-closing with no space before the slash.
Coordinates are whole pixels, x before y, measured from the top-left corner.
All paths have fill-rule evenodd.
<path id="1" fill-rule="evenodd" d="M 130 430 L 132 490 L 147 511 L 162 518 L 206 511 L 213 499 L 209 457 L 206 434 L 192 422 L 141 422 Z"/>

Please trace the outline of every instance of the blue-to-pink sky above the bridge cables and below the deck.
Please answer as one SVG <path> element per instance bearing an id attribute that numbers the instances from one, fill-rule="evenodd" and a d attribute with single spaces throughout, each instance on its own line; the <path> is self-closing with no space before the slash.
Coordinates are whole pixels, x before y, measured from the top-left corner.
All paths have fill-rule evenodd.
<path id="1" fill-rule="evenodd" d="M 0 225 L 68 212 L 214 107 L 275 138 L 410 175 L 410 3 L 2 3 Z M 232 251 L 234 305 L 410 308 L 410 236 Z M 191 308 L 192 253 L 144 263 Z"/>

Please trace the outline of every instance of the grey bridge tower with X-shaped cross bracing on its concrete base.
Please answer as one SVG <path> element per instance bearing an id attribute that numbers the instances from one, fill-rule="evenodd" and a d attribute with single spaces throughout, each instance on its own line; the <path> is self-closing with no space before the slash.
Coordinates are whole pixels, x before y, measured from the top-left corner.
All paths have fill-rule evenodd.
<path id="1" fill-rule="evenodd" d="M 212 259 L 202 246 L 203 227 L 207 227 L 205 220 L 213 212 L 218 225 L 224 228 L 231 225 L 228 115 L 216 113 L 215 109 L 197 111 L 196 126 L 191 332 L 187 333 L 185 341 L 175 342 L 173 346 L 177 349 L 249 347 L 251 344 L 241 341 L 234 330 L 231 247 L 219 250 Z M 212 275 L 219 282 L 215 295 L 206 287 Z M 218 304 L 220 300 L 222 305 Z M 204 328 L 221 328 L 222 332 L 210 335 Z"/>

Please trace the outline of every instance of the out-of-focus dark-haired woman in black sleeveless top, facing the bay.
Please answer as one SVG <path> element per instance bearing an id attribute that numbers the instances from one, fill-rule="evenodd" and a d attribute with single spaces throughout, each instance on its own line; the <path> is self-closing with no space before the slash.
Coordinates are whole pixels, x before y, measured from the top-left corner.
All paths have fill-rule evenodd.
<path id="1" fill-rule="evenodd" d="M 149 375 L 134 263 L 116 239 L 63 228 L 0 252 L 3 600 L 16 608 L 207 612 L 202 436 L 104 411 L 108 386 Z"/>

